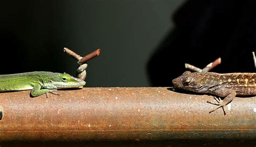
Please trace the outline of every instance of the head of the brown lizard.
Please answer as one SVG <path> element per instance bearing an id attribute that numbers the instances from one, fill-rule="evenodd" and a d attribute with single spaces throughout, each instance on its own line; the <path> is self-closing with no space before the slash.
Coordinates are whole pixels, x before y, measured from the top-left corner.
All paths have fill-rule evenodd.
<path id="1" fill-rule="evenodd" d="M 198 92 L 203 85 L 200 83 L 198 72 L 185 71 L 181 76 L 172 80 L 174 87 Z"/>

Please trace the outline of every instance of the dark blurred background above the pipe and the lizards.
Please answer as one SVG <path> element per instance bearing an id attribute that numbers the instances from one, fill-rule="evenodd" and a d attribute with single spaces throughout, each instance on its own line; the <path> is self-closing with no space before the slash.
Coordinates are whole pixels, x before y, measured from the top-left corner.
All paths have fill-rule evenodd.
<path id="1" fill-rule="evenodd" d="M 255 72 L 256 1 L 3 1 L 0 74 L 67 72 L 80 55 L 87 87 L 172 86 L 184 63 L 213 72 Z"/>

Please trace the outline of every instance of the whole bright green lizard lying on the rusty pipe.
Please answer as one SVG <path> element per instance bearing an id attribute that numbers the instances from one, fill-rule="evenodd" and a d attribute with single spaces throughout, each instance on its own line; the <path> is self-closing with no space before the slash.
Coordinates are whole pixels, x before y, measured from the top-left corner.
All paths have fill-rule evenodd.
<path id="1" fill-rule="evenodd" d="M 67 73 L 34 71 L 0 75 L 0 92 L 31 90 L 31 96 L 37 97 L 46 93 L 57 94 L 57 89 L 83 87 L 85 82 Z"/>

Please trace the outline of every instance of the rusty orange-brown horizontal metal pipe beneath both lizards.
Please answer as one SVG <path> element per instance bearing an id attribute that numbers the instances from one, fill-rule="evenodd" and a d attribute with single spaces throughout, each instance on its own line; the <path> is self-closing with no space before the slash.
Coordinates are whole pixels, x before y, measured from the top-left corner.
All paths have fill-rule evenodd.
<path id="1" fill-rule="evenodd" d="M 166 87 L 107 87 L 0 93 L 0 141 L 144 139 L 256 139 L 256 97 L 235 98 L 208 112 L 211 95 L 184 94 Z"/>

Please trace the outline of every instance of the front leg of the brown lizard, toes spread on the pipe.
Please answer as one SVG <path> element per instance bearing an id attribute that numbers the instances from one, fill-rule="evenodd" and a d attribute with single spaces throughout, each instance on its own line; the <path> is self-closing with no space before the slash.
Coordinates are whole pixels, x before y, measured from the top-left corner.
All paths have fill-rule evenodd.
<path id="1" fill-rule="evenodd" d="M 223 108 L 223 112 L 224 115 L 226 115 L 226 112 L 224 110 L 224 106 L 226 106 L 227 104 L 229 104 L 235 97 L 235 95 L 237 95 L 237 92 L 235 92 L 234 90 L 231 89 L 227 89 L 227 88 L 219 88 L 217 90 L 214 90 L 211 92 L 211 94 L 217 95 L 219 97 L 225 97 L 224 100 L 218 100 L 217 98 L 215 99 L 217 102 L 211 102 L 211 101 L 207 101 L 210 104 L 213 105 L 217 105 L 219 107 L 213 109 L 212 111 L 210 111 L 209 113 L 214 112 L 215 110 L 217 110 L 218 108 Z"/>

